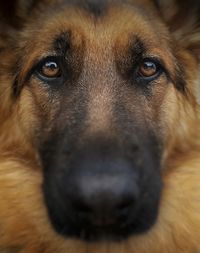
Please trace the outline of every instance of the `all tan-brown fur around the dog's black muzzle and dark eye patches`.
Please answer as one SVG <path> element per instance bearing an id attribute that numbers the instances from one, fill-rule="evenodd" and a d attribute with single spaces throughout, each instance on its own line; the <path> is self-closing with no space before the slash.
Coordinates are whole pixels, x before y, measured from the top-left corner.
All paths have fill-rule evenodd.
<path id="1" fill-rule="evenodd" d="M 46 0 L 46 2 L 49 4 L 52 2 L 53 5 L 57 1 Z M 111 5 L 103 21 L 100 21 L 99 17 L 95 25 L 85 10 L 79 10 L 78 7 L 76 9 L 74 6 L 69 6 L 58 16 L 46 17 L 49 22 L 41 30 L 35 29 L 41 26 L 42 6 L 36 7 L 30 15 L 32 3 L 30 6 L 25 6 L 25 1 L 24 3 L 19 1 L 19 6 L 15 5 L 13 8 L 17 11 L 12 14 L 11 22 L 8 22 L 7 17 L 2 14 L 0 44 L 1 253 L 200 253 L 200 26 L 197 15 L 200 6 L 189 4 L 187 8 L 192 7 L 191 13 L 194 15 L 188 16 L 187 20 L 182 22 L 179 18 L 179 15 L 182 17 L 179 8 L 182 9 L 178 4 L 172 3 L 169 6 L 171 12 L 168 14 L 166 4 L 171 1 L 161 0 L 158 3 L 159 11 L 153 7 L 153 1 L 127 2 L 129 2 L 127 5 L 131 2 L 138 4 L 139 7 L 136 8 L 134 16 L 129 8 L 121 8 L 120 4 L 117 7 Z M 182 2 L 185 3 L 185 1 Z M 4 10 L 7 7 L 2 5 L 1 8 Z M 54 8 L 52 7 L 52 12 Z M 137 14 L 137 11 L 142 12 L 140 8 L 147 8 L 147 11 L 151 12 L 151 29 Z M 7 14 L 7 11 L 5 13 Z M 164 22 L 161 21 L 159 15 L 162 15 Z M 13 25 L 13 22 L 15 23 L 13 20 L 17 20 L 17 26 Z M 23 24 L 26 26 L 23 27 Z M 157 26 L 162 34 L 159 40 L 153 33 L 154 26 Z M 41 129 L 45 129 L 45 133 L 48 134 L 51 125 L 46 125 L 46 122 L 52 122 L 59 108 L 62 107 L 62 101 L 59 104 L 56 99 L 49 97 L 46 88 L 40 84 L 35 85 L 36 80 L 32 81 L 31 86 L 20 87 L 20 91 L 17 91 L 20 92 L 20 98 L 13 95 L 12 85 L 16 75 L 19 74 L 18 78 L 24 80 L 34 59 L 51 50 L 48 48 L 50 47 L 48 41 L 51 41 L 55 31 L 58 29 L 60 32 L 65 31 L 66 27 L 75 31 L 72 37 L 73 50 L 80 58 L 86 55 L 83 75 L 90 75 L 92 80 L 98 80 L 97 89 L 91 88 L 88 96 L 89 127 L 88 132 L 84 133 L 85 136 L 93 135 L 95 132 L 105 133 L 111 129 L 112 111 L 108 108 L 114 99 L 113 90 L 105 85 L 103 79 L 98 79 L 98 76 L 108 75 L 109 66 L 114 64 L 113 57 L 109 58 L 111 47 L 116 58 L 119 59 L 119 66 L 123 65 L 126 59 L 121 55 L 124 55 L 124 50 L 130 43 L 131 32 L 140 35 L 154 53 L 165 59 L 167 68 L 174 79 L 177 78 L 176 68 L 179 68 L 179 75 L 184 75 L 184 81 L 187 83 L 184 92 L 172 85 L 166 89 L 160 83 L 154 90 L 157 94 L 156 98 L 148 105 L 143 105 L 143 111 L 149 115 L 152 125 L 154 121 L 159 121 L 164 126 L 163 132 L 158 133 L 165 139 L 164 190 L 155 226 L 148 233 L 134 236 L 122 243 L 86 244 L 76 240 L 66 240 L 54 232 L 44 205 L 41 190 L 42 169 L 35 149 L 37 141 L 34 136 Z M 108 28 L 105 29 L 105 27 Z M 82 35 L 87 37 L 86 44 L 82 41 Z M 115 45 L 111 41 L 115 41 Z M 87 54 L 88 49 L 90 49 L 89 54 Z M 76 62 L 72 62 L 75 66 L 77 65 Z M 90 73 L 91 62 L 96 62 L 93 68 L 96 68 L 97 76 Z M 21 65 L 23 69 L 18 73 Z M 109 73 L 107 82 L 109 80 L 114 82 L 115 73 L 112 69 Z M 76 77 L 75 73 L 74 78 Z M 129 108 L 132 106 L 132 99 L 133 97 L 127 94 Z M 152 108 L 157 107 L 159 111 L 154 114 Z M 69 120 L 73 120 L 70 112 L 67 112 L 67 115 Z M 103 120 L 100 120 L 98 115 L 101 115 Z M 62 121 L 57 124 L 57 127 L 62 128 Z M 110 131 L 110 134 L 115 133 Z"/>

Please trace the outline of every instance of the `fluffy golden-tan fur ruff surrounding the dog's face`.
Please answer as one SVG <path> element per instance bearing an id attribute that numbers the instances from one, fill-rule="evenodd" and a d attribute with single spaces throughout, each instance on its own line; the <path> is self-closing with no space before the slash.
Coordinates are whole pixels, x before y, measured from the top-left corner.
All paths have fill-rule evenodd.
<path id="1" fill-rule="evenodd" d="M 55 1 L 46 2 L 51 4 Z M 165 125 L 165 152 L 162 159 L 164 189 L 155 226 L 149 232 L 121 243 L 97 244 L 67 240 L 56 234 L 51 227 L 42 194 L 41 162 L 34 143 L 34 130 L 40 129 L 42 125 L 41 117 L 33 106 L 38 101 L 30 96 L 26 88 L 22 87 L 20 91 L 19 87 L 13 88 L 16 78 L 23 79 L 22 72 L 31 64 L 31 59 L 27 58 L 32 50 L 31 43 L 35 43 L 32 41 L 31 29 L 37 26 L 40 29 L 45 8 L 42 5 L 36 6 L 37 1 L 6 1 L 9 7 L 6 3 L 0 3 L 1 253 L 200 252 L 200 4 L 197 1 L 173 0 L 139 2 L 152 10 L 152 17 L 156 21 L 149 21 L 167 30 L 164 40 L 168 45 L 173 45 L 173 57 L 180 63 L 175 66 L 179 73 L 176 78 L 182 78 L 186 82 L 183 92 L 176 88 L 167 90 L 159 115 Z M 55 6 L 52 7 L 52 12 L 54 8 Z M 8 9 L 12 9 L 12 18 L 9 17 Z M 70 10 L 73 16 L 75 11 Z M 114 22 L 115 15 L 130 15 L 119 10 L 117 14 L 114 12 L 109 12 L 109 22 Z M 69 20 L 73 20 L 70 15 Z M 49 21 L 52 33 L 63 18 L 58 17 L 52 23 Z M 90 29 L 87 27 L 88 20 L 77 18 L 77 22 L 85 22 L 86 29 Z M 135 19 L 135 22 L 137 25 L 140 20 Z M 116 29 L 117 33 L 118 30 L 130 29 L 130 25 L 127 26 L 124 22 L 112 29 Z M 140 33 L 143 33 L 142 29 Z M 41 40 L 50 37 L 51 32 L 45 34 L 43 31 L 41 34 Z M 30 48 L 24 45 L 24 41 L 29 41 Z M 38 48 L 39 44 L 37 42 Z M 19 62 L 19 59 L 23 60 Z M 22 62 L 26 64 L 23 65 Z M 23 71 L 20 72 L 21 65 Z M 16 97 L 13 89 L 23 95 Z M 48 110 L 45 103 L 43 108 Z"/>

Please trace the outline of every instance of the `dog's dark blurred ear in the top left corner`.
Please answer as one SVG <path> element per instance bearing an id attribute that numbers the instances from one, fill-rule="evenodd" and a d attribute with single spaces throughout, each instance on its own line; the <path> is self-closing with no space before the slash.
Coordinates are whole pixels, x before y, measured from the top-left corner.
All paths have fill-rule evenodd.
<path id="1" fill-rule="evenodd" d="M 36 0 L 37 1 L 37 0 Z M 34 0 L 5 0 L 0 1 L 0 22 L 1 24 L 18 28 L 28 16 Z"/>

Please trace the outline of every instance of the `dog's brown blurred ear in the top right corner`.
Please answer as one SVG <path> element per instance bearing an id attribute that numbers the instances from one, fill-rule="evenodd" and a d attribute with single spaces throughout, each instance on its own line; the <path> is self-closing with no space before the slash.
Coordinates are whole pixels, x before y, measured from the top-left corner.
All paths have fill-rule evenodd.
<path id="1" fill-rule="evenodd" d="M 200 60 L 200 1 L 155 0 L 176 41 Z"/>

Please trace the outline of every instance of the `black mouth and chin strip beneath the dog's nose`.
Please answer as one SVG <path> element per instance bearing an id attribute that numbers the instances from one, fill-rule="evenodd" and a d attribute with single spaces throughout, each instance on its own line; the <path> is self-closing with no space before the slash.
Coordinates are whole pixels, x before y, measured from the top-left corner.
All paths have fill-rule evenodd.
<path id="1" fill-rule="evenodd" d="M 151 210 L 149 210 L 151 212 Z M 142 217 L 144 215 L 144 217 Z M 87 242 L 121 242 L 127 240 L 130 236 L 141 234 L 151 229 L 156 222 L 158 215 L 158 208 L 148 216 L 142 213 L 138 213 L 133 220 L 129 221 L 116 221 L 116 223 L 103 222 L 102 224 L 91 224 L 84 222 L 81 219 L 77 219 L 76 223 L 66 221 L 59 222 L 59 219 L 51 217 L 51 222 L 55 230 L 66 238 L 78 238 Z M 148 219 L 147 219 L 148 217 Z"/>

